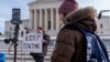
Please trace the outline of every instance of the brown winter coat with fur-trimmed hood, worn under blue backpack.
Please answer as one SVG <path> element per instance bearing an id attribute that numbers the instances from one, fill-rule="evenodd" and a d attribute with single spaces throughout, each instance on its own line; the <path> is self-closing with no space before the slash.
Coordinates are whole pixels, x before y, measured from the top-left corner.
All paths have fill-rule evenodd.
<path id="1" fill-rule="evenodd" d="M 62 8 L 59 8 L 62 9 Z M 59 10 L 59 13 L 64 11 Z M 56 39 L 56 46 L 51 56 L 51 62 L 86 62 L 86 41 L 78 30 L 67 29 L 66 25 L 78 24 L 92 32 L 96 31 L 97 11 L 92 7 L 87 7 L 72 11 L 65 17 L 65 25 L 59 31 Z"/>

